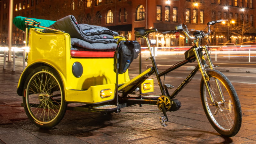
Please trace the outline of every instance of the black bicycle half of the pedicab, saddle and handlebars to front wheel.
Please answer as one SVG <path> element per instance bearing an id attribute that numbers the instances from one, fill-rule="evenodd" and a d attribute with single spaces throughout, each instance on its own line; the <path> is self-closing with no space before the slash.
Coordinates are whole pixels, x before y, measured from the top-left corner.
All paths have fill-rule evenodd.
<path id="1" fill-rule="evenodd" d="M 206 27 L 207 33 L 204 33 L 202 30 L 199 31 L 195 29 L 183 28 L 182 25 L 176 26 L 176 30 L 163 32 L 163 34 L 183 32 L 189 39 L 195 40 L 196 42 L 194 46 L 185 52 L 185 60 L 177 63 L 176 65 L 166 69 L 161 73 L 159 73 L 157 70 L 156 62 L 154 57 L 152 57 L 152 52 L 149 48 L 151 55 L 150 59 L 152 60 L 162 95 L 164 95 L 161 96 L 157 101 L 158 108 L 160 108 L 164 113 L 164 116 L 161 117 L 162 125 L 168 121 L 166 111 L 176 111 L 180 108 L 180 102 L 179 100 L 175 99 L 175 97 L 199 70 L 202 74 L 202 79 L 200 82 L 201 101 L 205 115 L 207 116 L 213 128 L 221 135 L 227 137 L 236 135 L 236 133 L 240 130 L 242 123 L 242 110 L 235 88 L 224 74 L 214 69 L 215 67 L 212 64 L 209 53 L 209 50 L 211 49 L 209 42 L 211 26 L 222 21 L 225 20 L 208 22 Z M 154 32 L 156 29 L 136 31 L 135 35 L 146 39 L 149 47 L 150 44 L 147 36 L 152 31 Z M 191 34 L 192 32 L 193 34 Z M 207 45 L 201 45 L 200 43 L 204 37 L 206 37 Z M 206 56 L 207 59 L 205 59 L 204 56 Z M 188 62 L 194 62 L 195 60 L 198 63 L 196 68 L 192 70 L 187 78 L 170 95 L 168 89 L 171 89 L 174 86 L 169 84 L 165 84 L 163 86 L 159 77 L 164 76 L 165 74 L 176 68 L 179 68 Z M 206 63 L 207 61 L 209 64 Z M 172 105 L 174 105 L 174 107 Z"/>

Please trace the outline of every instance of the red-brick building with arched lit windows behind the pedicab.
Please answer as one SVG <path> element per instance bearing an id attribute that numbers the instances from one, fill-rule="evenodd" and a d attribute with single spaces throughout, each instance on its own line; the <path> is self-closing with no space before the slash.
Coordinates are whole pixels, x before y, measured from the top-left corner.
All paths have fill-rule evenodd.
<path id="1" fill-rule="evenodd" d="M 9 0 L 0 0 L 0 39 L 7 44 Z M 176 25 L 204 30 L 207 22 L 227 19 L 213 26 L 212 44 L 255 40 L 255 0 L 14 0 L 13 17 L 59 20 L 74 15 L 78 23 L 100 25 L 134 40 L 137 28 L 156 28 L 149 39 L 156 46 L 191 45 L 184 35 L 162 35 Z M 234 21 L 234 23 L 233 23 Z M 13 44 L 24 40 L 24 32 L 13 26 Z M 140 41 L 140 39 L 136 39 Z M 140 41 L 143 45 L 143 40 Z"/>

